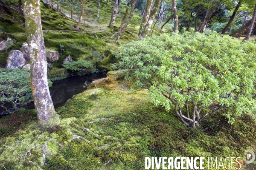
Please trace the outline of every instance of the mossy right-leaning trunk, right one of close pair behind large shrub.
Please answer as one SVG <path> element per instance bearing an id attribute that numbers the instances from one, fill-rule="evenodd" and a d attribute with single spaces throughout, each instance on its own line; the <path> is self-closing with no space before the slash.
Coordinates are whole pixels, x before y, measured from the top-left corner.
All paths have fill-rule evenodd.
<path id="1" fill-rule="evenodd" d="M 156 0 L 155 1 L 154 8 L 152 9 L 151 14 L 150 14 L 150 16 L 148 18 L 148 22 L 146 23 L 146 25 L 145 25 L 142 33 L 141 33 L 141 37 L 142 38 L 145 38 L 148 35 L 148 33 L 149 33 L 150 29 L 151 29 L 151 26 L 152 26 L 152 24 L 154 22 L 154 19 L 155 19 L 156 15 L 157 15 L 157 11 L 158 11 L 158 9 L 160 7 L 160 3 L 161 3 L 161 0 Z"/>

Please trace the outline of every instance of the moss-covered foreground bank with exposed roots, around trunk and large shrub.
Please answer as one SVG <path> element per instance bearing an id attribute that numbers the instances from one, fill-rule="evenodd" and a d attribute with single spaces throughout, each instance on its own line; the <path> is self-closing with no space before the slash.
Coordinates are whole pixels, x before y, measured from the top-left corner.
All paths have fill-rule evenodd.
<path id="1" fill-rule="evenodd" d="M 250 118 L 229 125 L 216 113 L 187 128 L 174 112 L 152 105 L 148 90 L 129 91 L 113 71 L 57 113 L 61 123 L 48 130 L 38 128 L 34 110 L 0 119 L 0 169 L 141 170 L 146 156 L 232 156 L 242 164 L 244 150 L 256 149 Z"/>

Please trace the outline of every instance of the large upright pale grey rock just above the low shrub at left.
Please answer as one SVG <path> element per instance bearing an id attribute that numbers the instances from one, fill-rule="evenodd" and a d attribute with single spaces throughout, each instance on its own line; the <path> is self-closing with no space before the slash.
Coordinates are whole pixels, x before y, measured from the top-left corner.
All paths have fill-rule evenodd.
<path id="1" fill-rule="evenodd" d="M 21 51 L 19 50 L 11 50 L 9 52 L 9 57 L 7 60 L 6 68 L 19 68 L 25 65 L 25 58 Z"/>

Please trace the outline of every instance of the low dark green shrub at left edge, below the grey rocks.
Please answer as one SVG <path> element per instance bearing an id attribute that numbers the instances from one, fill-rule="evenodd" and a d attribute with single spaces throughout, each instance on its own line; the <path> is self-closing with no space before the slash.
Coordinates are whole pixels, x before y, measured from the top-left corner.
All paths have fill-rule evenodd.
<path id="1" fill-rule="evenodd" d="M 13 108 L 32 97 L 30 73 L 23 68 L 0 70 L 0 106 L 11 102 Z"/>

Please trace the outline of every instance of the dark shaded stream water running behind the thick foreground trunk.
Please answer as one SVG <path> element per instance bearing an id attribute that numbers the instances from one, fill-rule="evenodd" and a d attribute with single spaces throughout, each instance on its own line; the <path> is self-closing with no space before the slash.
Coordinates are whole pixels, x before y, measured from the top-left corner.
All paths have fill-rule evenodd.
<path id="1" fill-rule="evenodd" d="M 85 81 L 90 83 L 95 79 L 101 79 L 104 77 L 106 77 L 106 73 L 97 73 L 87 76 L 68 77 L 67 79 L 53 82 L 52 87 L 49 88 L 49 90 L 54 108 L 56 109 L 65 105 L 68 99 L 71 99 L 75 94 L 79 94 L 82 91 L 86 90 L 86 88 L 83 88 Z M 10 103 L 6 103 L 5 106 L 10 109 L 12 108 L 12 105 Z M 27 105 L 27 108 L 33 109 L 34 103 L 29 103 L 29 105 Z M 0 117 L 7 114 L 8 113 L 5 112 L 5 109 L 0 107 Z"/>

